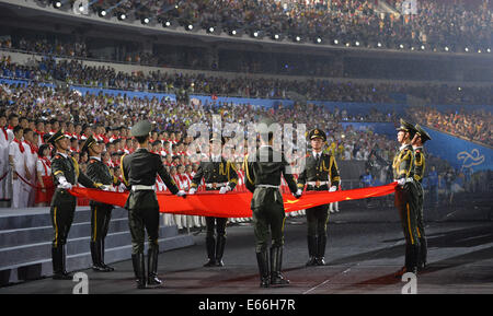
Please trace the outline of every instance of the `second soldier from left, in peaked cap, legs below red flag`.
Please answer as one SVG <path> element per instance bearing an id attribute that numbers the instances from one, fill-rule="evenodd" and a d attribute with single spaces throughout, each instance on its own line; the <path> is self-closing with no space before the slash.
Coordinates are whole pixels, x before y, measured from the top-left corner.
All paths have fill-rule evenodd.
<path id="1" fill-rule="evenodd" d="M 110 167 L 101 161 L 102 144 L 90 136 L 82 147 L 81 153 L 89 153 L 89 162 L 87 168 L 88 177 L 103 184 L 106 189 L 111 189 L 113 185 L 118 186 L 119 180 L 110 172 Z M 91 257 L 92 269 L 100 272 L 111 272 L 114 269 L 104 264 L 104 238 L 106 237 L 110 220 L 112 218 L 112 204 L 91 201 Z"/>

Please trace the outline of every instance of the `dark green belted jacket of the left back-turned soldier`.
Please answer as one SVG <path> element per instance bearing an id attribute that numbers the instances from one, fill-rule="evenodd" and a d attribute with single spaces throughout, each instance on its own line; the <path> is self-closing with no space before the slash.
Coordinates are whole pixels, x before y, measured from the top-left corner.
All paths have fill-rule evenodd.
<path id="1" fill-rule="evenodd" d="M 156 185 L 156 176 L 159 174 L 161 179 L 167 185 L 168 189 L 175 195 L 180 189 L 177 188 L 170 174 L 164 168 L 161 157 L 158 154 L 150 153 L 146 149 L 138 149 L 131 154 L 122 156 L 121 161 L 122 177 L 127 187 L 131 186 L 153 186 Z M 125 204 L 127 210 L 145 210 L 158 209 L 159 203 L 153 190 L 130 190 L 127 202 Z"/>

